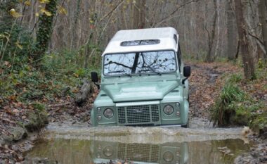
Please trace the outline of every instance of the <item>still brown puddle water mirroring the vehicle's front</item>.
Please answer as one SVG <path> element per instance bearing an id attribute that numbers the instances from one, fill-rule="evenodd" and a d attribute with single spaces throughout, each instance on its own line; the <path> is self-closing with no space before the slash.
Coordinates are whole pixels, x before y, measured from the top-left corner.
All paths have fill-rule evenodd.
<path id="1" fill-rule="evenodd" d="M 191 141 L 165 144 L 133 144 L 110 141 L 52 139 L 41 141 L 27 153 L 57 163 L 233 163 L 249 145 L 241 139 Z"/>

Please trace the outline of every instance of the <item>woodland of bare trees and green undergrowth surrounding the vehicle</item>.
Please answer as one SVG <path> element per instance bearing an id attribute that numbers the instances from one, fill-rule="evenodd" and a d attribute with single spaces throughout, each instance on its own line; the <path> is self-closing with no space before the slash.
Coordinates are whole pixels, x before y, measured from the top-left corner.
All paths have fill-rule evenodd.
<path id="1" fill-rule="evenodd" d="M 46 113 L 50 103 L 70 104 L 90 72 L 100 72 L 101 53 L 118 30 L 174 27 L 185 63 L 206 69 L 220 62 L 236 73 L 204 102 L 214 105 L 211 120 L 264 133 L 266 6 L 266 0 L 0 0 L 0 118 L 27 122 L 29 109 Z"/>

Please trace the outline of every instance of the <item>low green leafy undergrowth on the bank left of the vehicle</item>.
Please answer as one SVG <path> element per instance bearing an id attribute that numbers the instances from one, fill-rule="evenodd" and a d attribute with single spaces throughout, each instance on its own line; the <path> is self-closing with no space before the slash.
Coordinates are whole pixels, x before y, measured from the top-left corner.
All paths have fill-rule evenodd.
<path id="1" fill-rule="evenodd" d="M 12 63 L 5 61 L 0 66 L 0 108 L 8 101 L 56 101 L 67 87 L 65 96 L 74 97 L 91 71 L 100 72 L 99 68 L 80 68 L 75 57 L 71 51 L 46 54 L 39 70 L 28 63 L 11 69 Z"/>

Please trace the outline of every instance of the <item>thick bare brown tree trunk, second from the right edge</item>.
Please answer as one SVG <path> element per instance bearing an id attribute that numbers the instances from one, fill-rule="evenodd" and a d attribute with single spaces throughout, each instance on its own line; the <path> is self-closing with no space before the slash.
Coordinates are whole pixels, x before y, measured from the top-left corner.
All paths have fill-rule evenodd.
<path id="1" fill-rule="evenodd" d="M 235 16 L 237 20 L 237 32 L 238 39 L 240 40 L 240 51 L 244 65 L 245 77 L 247 80 L 254 80 L 256 79 L 254 58 L 252 54 L 249 53 L 249 42 L 247 38 L 247 31 L 245 29 L 245 18 L 241 0 L 235 0 Z"/>

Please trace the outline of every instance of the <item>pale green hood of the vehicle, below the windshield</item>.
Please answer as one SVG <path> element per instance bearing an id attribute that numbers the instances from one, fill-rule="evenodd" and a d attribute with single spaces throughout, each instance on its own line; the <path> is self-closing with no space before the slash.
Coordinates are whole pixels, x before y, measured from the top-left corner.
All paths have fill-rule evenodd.
<path id="1" fill-rule="evenodd" d="M 176 80 L 161 82 L 134 82 L 124 84 L 105 84 L 103 91 L 113 102 L 161 100 L 171 90 L 178 87 Z"/>

